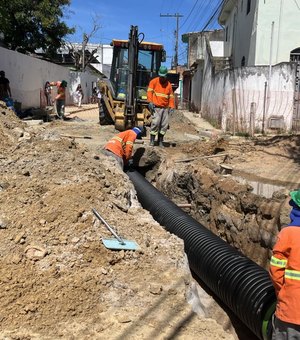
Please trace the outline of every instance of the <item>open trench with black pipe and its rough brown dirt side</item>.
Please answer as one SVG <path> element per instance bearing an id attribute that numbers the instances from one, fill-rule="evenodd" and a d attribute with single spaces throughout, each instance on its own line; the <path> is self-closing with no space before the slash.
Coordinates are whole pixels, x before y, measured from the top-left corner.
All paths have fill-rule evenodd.
<path id="1" fill-rule="evenodd" d="M 217 148 L 216 155 L 222 151 Z M 239 178 L 238 182 L 235 176 L 224 174 L 224 169 L 232 169 L 225 163 L 224 166 L 211 163 L 206 169 L 193 171 L 196 165 L 186 172 L 186 167 L 180 169 L 178 163 L 172 167 L 171 162 L 167 165 L 164 159 L 159 165 L 154 162 L 149 166 L 147 162 L 149 160 L 145 163 L 142 160 L 145 167 L 127 172 L 142 206 L 166 230 L 184 240 L 190 270 L 200 285 L 208 287 L 210 294 L 227 306 L 258 339 L 270 339 L 276 296 L 267 268 L 274 230 L 280 221 L 280 218 L 276 221 L 280 209 L 277 217 L 275 212 L 280 204 L 277 202 L 271 207 L 274 201 L 270 198 L 283 199 L 284 188 L 274 185 L 270 193 L 267 185 L 264 195 L 256 195 L 248 185 L 250 181 Z M 214 176 L 211 181 L 209 177 Z M 150 184 L 147 177 L 161 191 Z M 206 182 L 210 182 L 207 191 L 205 177 Z M 241 183 L 247 183 L 246 187 L 241 188 Z M 178 206 L 174 202 L 183 203 Z M 258 218 L 254 218 L 254 214 Z M 266 220 L 271 221 L 273 227 L 267 226 Z"/>

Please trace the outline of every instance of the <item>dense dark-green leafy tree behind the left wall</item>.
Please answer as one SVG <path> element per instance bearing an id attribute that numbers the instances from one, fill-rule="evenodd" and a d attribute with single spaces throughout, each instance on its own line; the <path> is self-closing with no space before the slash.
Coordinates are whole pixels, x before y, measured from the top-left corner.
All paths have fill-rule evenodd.
<path id="1" fill-rule="evenodd" d="M 48 56 L 56 53 L 66 35 L 74 33 L 63 21 L 70 0 L 0 1 L 0 31 L 4 44 L 19 52 L 41 48 Z"/>

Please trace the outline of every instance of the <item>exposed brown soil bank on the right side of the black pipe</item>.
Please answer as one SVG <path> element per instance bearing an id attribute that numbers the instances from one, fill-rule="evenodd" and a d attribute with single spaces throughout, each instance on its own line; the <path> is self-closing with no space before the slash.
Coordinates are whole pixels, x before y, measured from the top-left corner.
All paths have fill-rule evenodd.
<path id="1" fill-rule="evenodd" d="M 190 204 L 186 211 L 198 222 L 267 269 L 278 230 L 289 223 L 289 190 L 299 185 L 299 178 L 291 173 L 286 178 L 278 172 L 277 176 L 270 174 L 276 166 L 286 166 L 287 162 L 290 170 L 299 169 L 295 161 L 299 137 L 231 143 L 221 138 L 215 142 L 186 143 L 177 147 L 176 152 L 160 151 L 163 161 L 148 171 L 146 177 L 175 203 Z M 280 154 L 281 159 L 277 157 L 277 162 L 270 161 L 268 166 L 269 161 L 263 155 L 270 151 Z M 163 157 L 166 153 L 168 157 Z M 146 158 L 149 162 L 150 157 Z M 230 174 L 224 169 L 231 169 Z M 247 182 L 240 183 L 235 174 L 244 175 L 248 182 L 249 178 L 260 181 L 266 178 L 266 182 L 275 178 L 282 188 L 266 198 L 254 194 L 253 187 Z"/>

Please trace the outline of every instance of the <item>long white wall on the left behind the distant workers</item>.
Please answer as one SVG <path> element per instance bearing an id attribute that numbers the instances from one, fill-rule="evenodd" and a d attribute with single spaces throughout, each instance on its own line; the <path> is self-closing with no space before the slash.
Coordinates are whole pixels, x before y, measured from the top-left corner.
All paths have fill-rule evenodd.
<path id="1" fill-rule="evenodd" d="M 73 103 L 73 92 L 79 83 L 84 89 L 84 102 L 92 94 L 92 84 L 97 75 L 70 71 L 68 68 L 0 47 L 0 70 L 10 81 L 13 100 L 22 103 L 22 109 L 40 107 L 46 81 L 65 79 L 68 82 L 67 105 Z M 56 89 L 53 89 L 55 95 Z M 42 98 L 42 100 L 41 100 Z"/>

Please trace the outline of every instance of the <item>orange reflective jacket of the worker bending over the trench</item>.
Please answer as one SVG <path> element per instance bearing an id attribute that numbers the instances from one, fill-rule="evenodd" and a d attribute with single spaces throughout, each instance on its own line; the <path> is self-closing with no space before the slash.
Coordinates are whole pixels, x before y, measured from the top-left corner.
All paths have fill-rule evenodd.
<path id="1" fill-rule="evenodd" d="M 133 143 L 136 140 L 136 137 L 136 133 L 132 130 L 120 132 L 106 143 L 104 149 L 123 158 L 126 163 L 131 158 Z"/>

